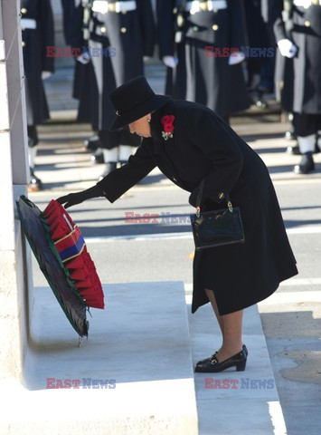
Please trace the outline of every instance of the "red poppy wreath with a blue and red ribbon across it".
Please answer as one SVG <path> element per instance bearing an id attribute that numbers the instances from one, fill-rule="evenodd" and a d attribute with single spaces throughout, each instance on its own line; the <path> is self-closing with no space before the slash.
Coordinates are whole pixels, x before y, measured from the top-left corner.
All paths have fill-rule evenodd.
<path id="1" fill-rule="evenodd" d="M 65 272 L 87 306 L 104 308 L 104 294 L 85 241 L 59 202 L 52 199 L 42 212 L 42 223 L 52 240 L 54 254 L 61 258 Z"/>

